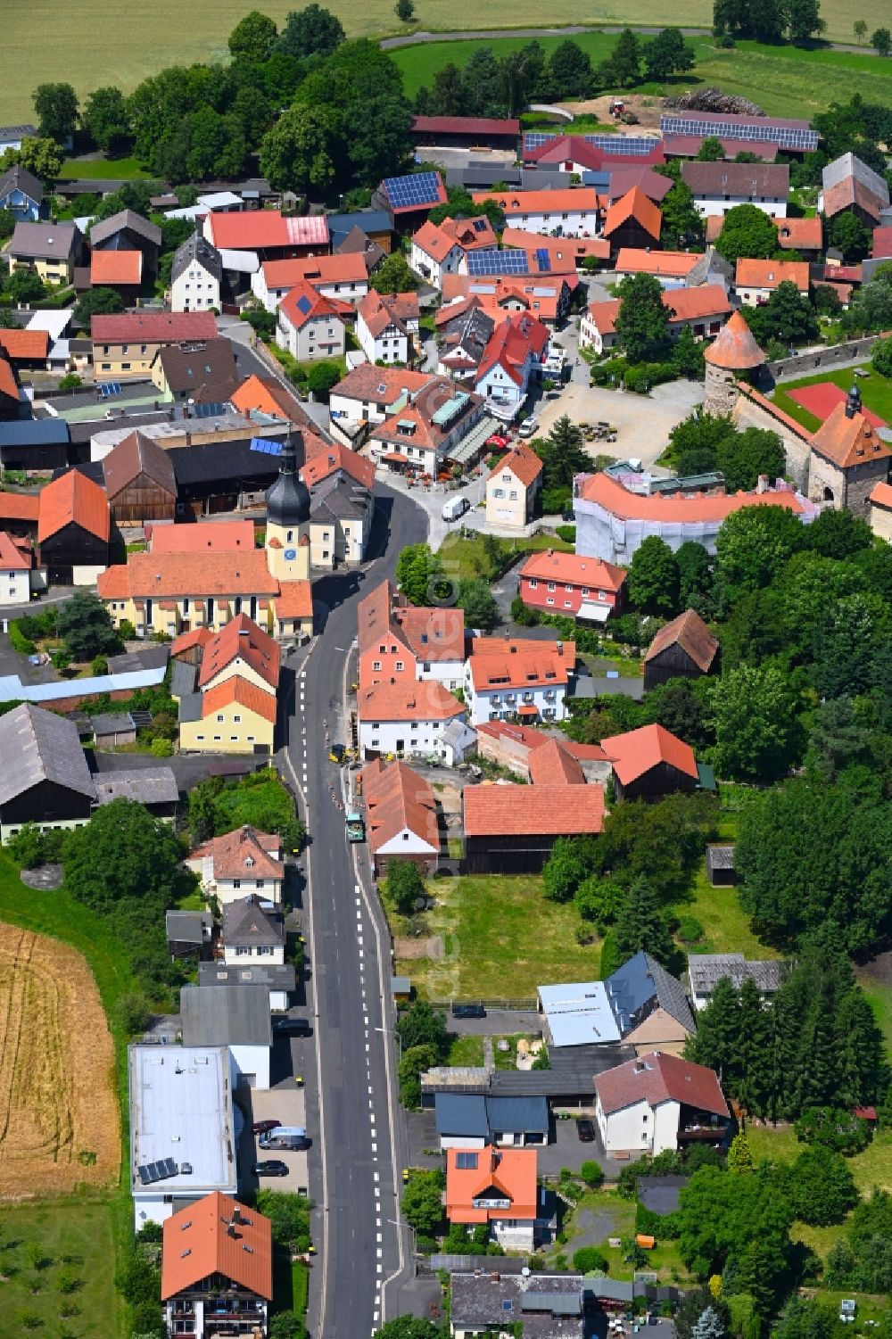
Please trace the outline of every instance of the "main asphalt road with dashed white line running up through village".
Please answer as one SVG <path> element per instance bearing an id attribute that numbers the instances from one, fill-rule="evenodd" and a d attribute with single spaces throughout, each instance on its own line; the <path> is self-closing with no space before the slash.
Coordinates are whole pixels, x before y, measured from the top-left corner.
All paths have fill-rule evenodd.
<path id="1" fill-rule="evenodd" d="M 343 690 L 356 603 L 392 574 L 406 544 L 427 533 L 425 513 L 407 498 L 383 487 L 376 497 L 371 552 L 380 556 L 366 564 L 362 580 L 347 572 L 315 581 L 317 639 L 296 660 L 283 720 L 284 771 L 299 791 L 311 834 L 303 924 L 316 1055 L 315 1062 L 307 1058 L 304 1077 L 319 1263 L 308 1320 L 311 1332 L 325 1339 L 368 1339 L 384 1320 L 384 1287 L 399 1284 L 411 1248 L 408 1228 L 395 1225 L 406 1137 L 390 1031 L 390 941 L 362 865 L 358 882 L 354 854 L 364 861 L 366 848 L 351 849 L 346 841 L 340 774 L 328 762 L 325 743 L 327 728 L 332 740 L 344 738 Z"/>

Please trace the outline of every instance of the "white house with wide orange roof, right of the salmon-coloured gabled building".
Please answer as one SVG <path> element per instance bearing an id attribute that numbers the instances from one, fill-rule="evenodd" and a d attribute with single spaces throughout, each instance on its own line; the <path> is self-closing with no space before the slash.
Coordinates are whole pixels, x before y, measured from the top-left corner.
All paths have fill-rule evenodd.
<path id="1" fill-rule="evenodd" d="M 514 716 L 563 720 L 576 665 L 572 641 L 475 637 L 465 667 L 465 702 L 473 726 Z"/>

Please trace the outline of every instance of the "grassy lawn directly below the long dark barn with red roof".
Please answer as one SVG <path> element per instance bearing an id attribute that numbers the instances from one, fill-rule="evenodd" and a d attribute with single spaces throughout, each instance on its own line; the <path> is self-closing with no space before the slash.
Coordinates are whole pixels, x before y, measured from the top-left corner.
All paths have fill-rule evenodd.
<path id="1" fill-rule="evenodd" d="M 433 880 L 442 901 L 426 917 L 443 937 L 441 959 L 400 960 L 431 1000 L 533 1000 L 541 981 L 585 981 L 597 976 L 600 944 L 576 943 L 579 915 L 572 902 L 542 897 L 533 876 L 469 876 Z"/>

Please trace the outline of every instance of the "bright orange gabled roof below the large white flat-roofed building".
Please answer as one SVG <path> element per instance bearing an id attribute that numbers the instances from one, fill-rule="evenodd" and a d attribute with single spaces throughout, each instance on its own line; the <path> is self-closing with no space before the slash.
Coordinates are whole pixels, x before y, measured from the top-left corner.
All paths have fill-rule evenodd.
<path id="1" fill-rule="evenodd" d="M 230 1236 L 236 1208 L 240 1221 Z M 165 1220 L 161 1300 L 216 1273 L 272 1302 L 272 1223 L 220 1190 Z"/>

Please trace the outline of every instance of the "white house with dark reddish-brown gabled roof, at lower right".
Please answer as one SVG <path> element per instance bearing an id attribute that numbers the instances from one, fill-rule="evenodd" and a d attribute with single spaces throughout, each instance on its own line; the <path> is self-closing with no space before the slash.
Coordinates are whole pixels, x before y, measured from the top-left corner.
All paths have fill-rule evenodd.
<path id="1" fill-rule="evenodd" d="M 684 1135 L 721 1142 L 731 1114 L 713 1070 L 651 1051 L 596 1075 L 595 1119 L 608 1156 L 655 1157 Z"/>

